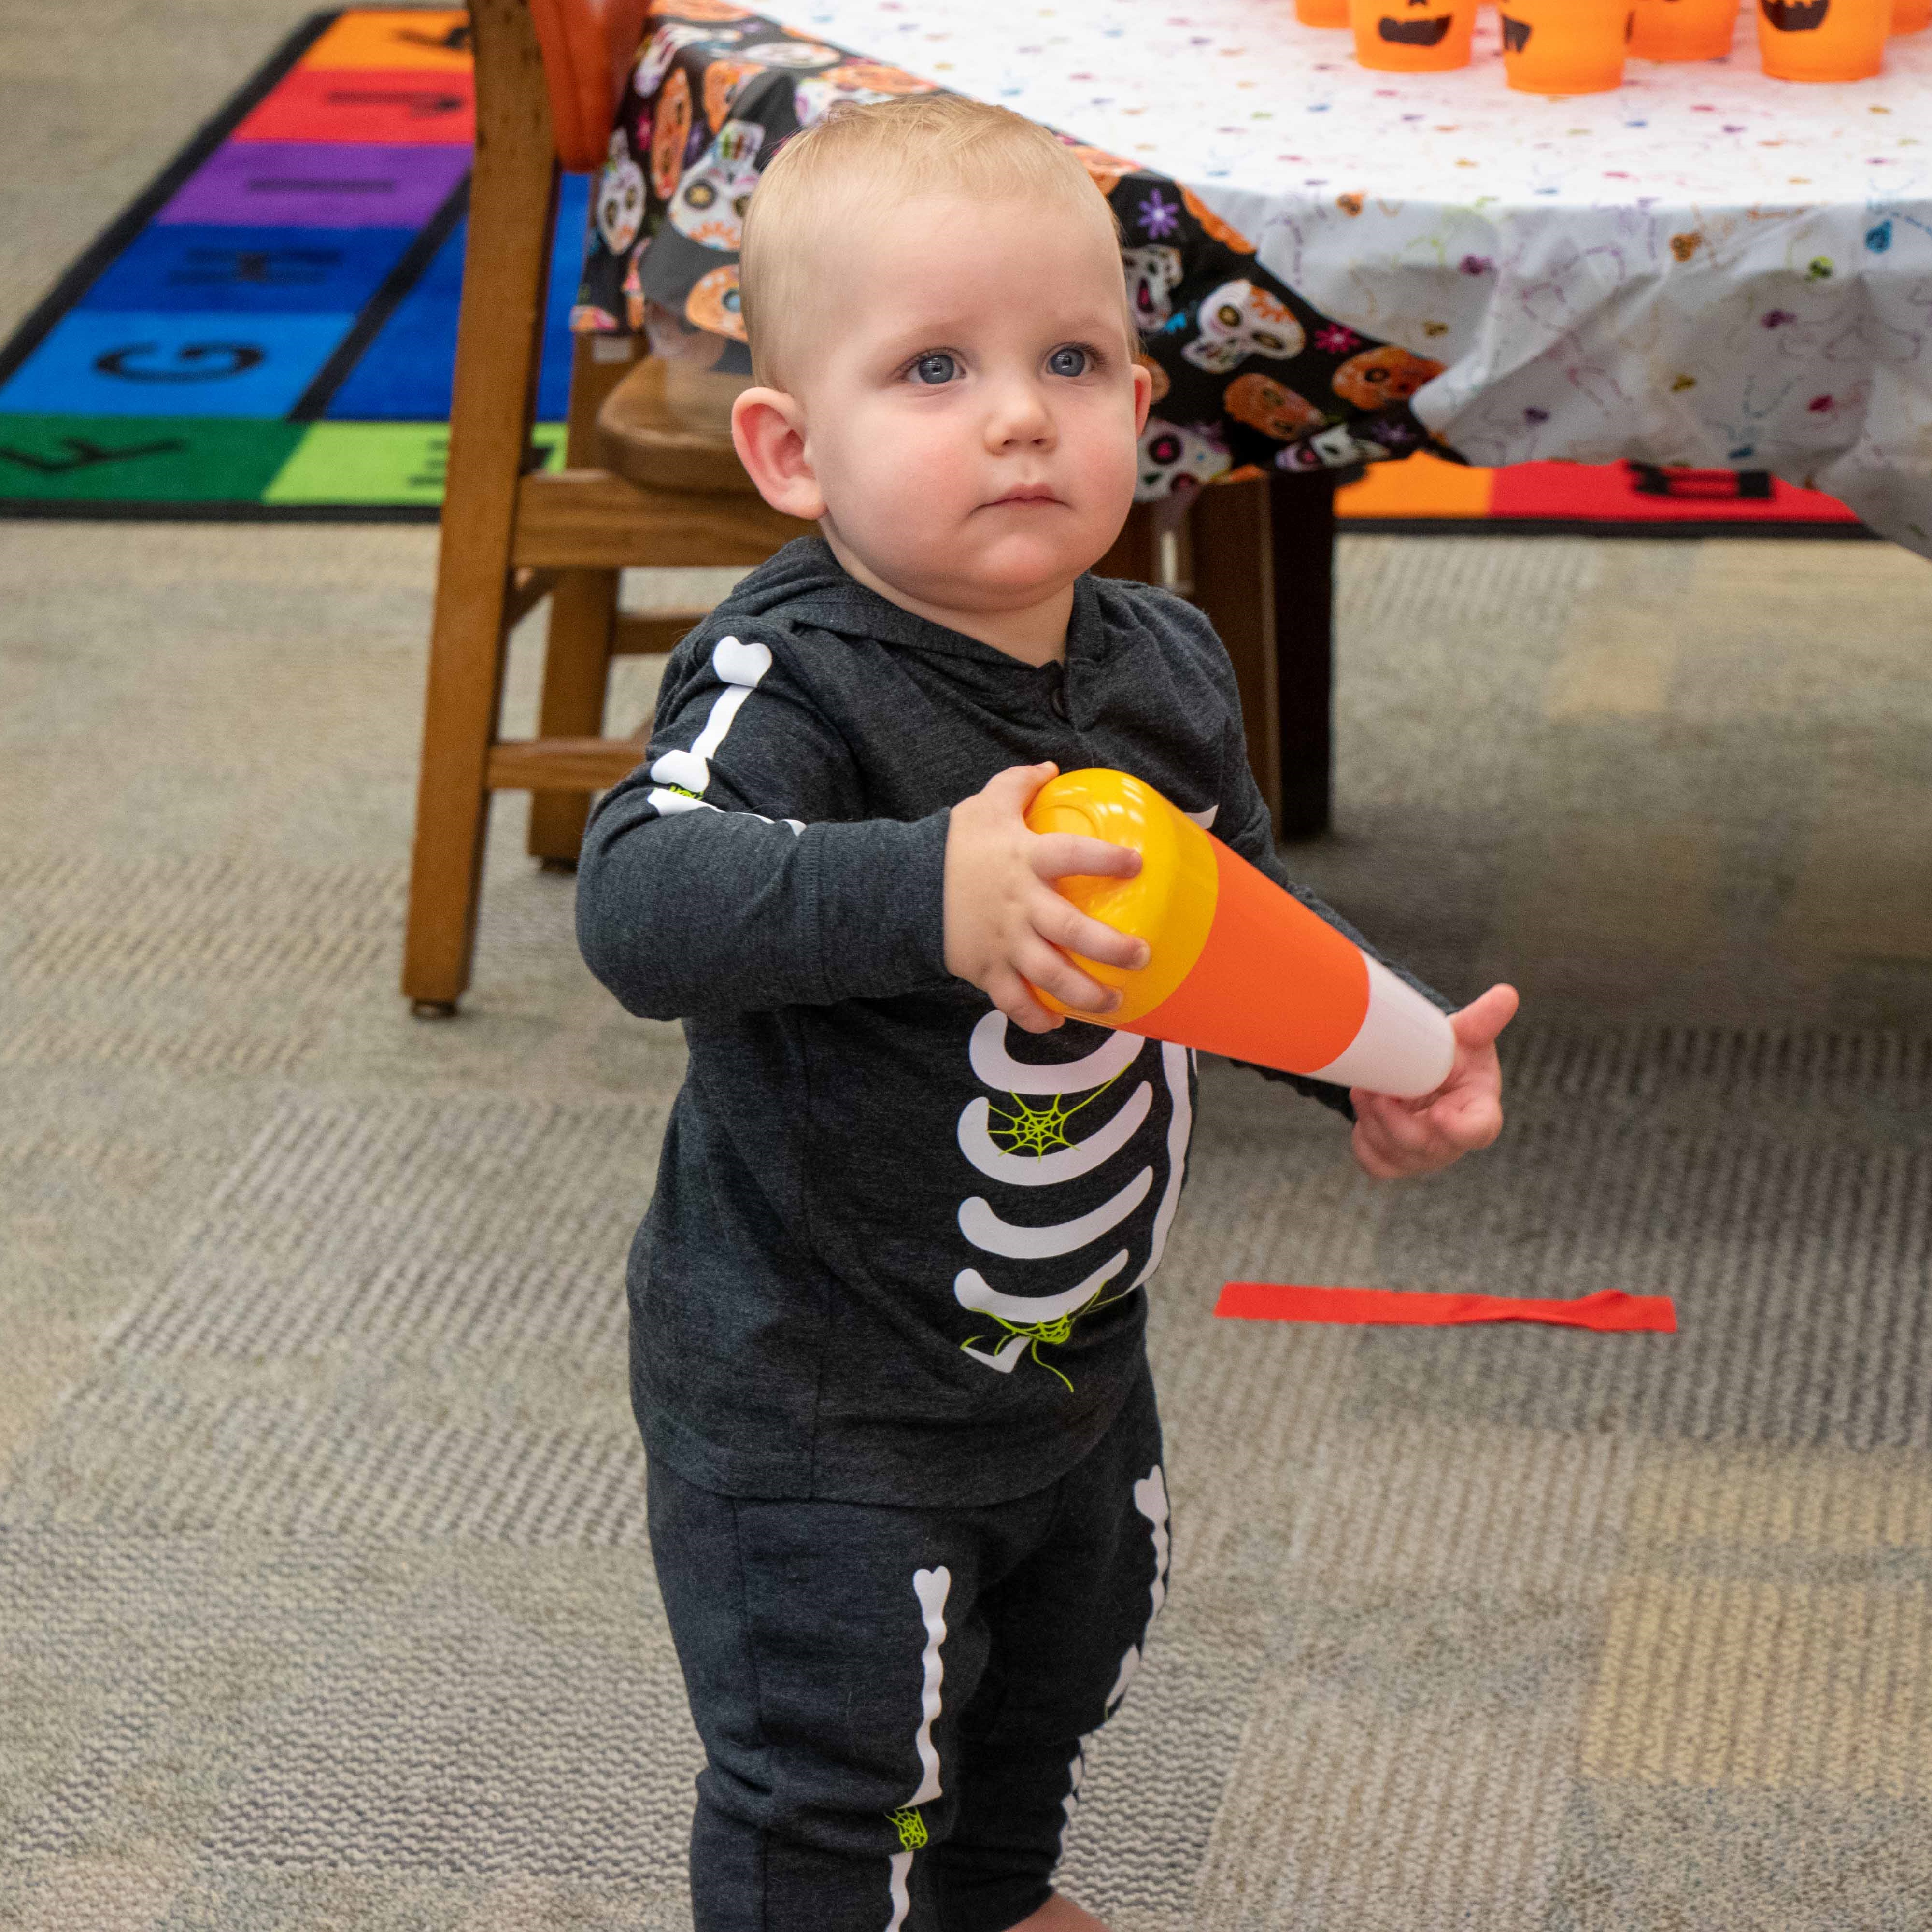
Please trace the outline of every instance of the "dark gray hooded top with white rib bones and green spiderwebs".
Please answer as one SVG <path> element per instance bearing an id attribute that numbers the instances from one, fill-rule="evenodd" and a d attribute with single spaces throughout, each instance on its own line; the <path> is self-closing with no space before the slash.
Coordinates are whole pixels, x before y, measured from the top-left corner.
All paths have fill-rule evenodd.
<path id="1" fill-rule="evenodd" d="M 1165 591 L 1080 578 L 1065 665 L 1032 667 L 808 537 L 670 657 L 645 763 L 585 833 L 578 939 L 690 1043 L 630 1260 L 632 1399 L 688 1482 L 1003 1501 L 1146 1372 L 1192 1057 L 1026 1034 L 941 951 L 949 808 L 1043 759 L 1132 771 L 1308 900 L 1227 653 Z"/>

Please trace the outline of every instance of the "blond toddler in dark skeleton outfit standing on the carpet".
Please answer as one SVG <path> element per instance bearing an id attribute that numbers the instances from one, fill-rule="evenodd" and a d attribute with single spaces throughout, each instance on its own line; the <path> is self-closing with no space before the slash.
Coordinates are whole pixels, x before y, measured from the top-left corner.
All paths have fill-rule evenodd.
<path id="1" fill-rule="evenodd" d="M 1053 887 L 1136 856 L 1024 811 L 1113 765 L 1281 867 L 1208 622 L 1088 574 L 1150 379 L 1074 155 L 951 97 L 835 110 L 742 276 L 738 452 L 819 537 L 678 645 L 578 900 L 690 1041 L 630 1304 L 697 1932 L 1095 1928 L 1051 1872 L 1167 1588 L 1142 1291 L 1194 1066 L 1034 999 L 1105 1012 L 1068 954 L 1146 949 Z M 1441 1167 L 1501 1126 L 1513 1009 L 1457 1014 L 1426 1101 L 1291 1084 L 1370 1173 Z"/>

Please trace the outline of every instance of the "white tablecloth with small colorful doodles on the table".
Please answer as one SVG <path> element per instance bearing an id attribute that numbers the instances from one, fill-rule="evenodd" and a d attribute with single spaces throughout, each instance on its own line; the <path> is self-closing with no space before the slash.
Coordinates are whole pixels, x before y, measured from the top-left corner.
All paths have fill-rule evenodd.
<path id="1" fill-rule="evenodd" d="M 1445 363 L 1412 408 L 1470 462 L 1770 469 L 1932 556 L 1932 31 L 1793 85 L 1743 14 L 1727 62 L 1551 100 L 1503 85 L 1493 10 L 1426 75 L 1289 0 L 771 12 L 1173 176 L 1314 307 Z"/>

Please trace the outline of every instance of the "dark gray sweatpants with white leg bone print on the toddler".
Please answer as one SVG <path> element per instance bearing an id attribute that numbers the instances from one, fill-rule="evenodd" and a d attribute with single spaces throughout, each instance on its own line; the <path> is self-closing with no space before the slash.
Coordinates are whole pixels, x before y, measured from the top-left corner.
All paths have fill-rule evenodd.
<path id="1" fill-rule="evenodd" d="M 1045 1903 L 1082 1739 L 1167 1588 L 1151 1381 L 1010 1503 L 752 1501 L 659 1463 L 649 1484 L 707 1758 L 697 1932 L 1005 1932 Z"/>

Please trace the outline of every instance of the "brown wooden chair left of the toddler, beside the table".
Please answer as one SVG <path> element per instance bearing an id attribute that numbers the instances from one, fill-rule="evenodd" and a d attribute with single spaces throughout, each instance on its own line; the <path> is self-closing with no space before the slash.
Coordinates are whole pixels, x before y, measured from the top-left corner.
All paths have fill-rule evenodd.
<path id="1" fill-rule="evenodd" d="M 454 1012 L 469 983 L 489 794 L 535 794 L 529 850 L 574 864 L 591 796 L 639 753 L 634 738 L 603 736 L 612 655 L 668 651 L 703 614 L 622 616 L 618 574 L 630 564 L 750 566 L 808 527 L 769 510 L 742 469 L 721 473 L 715 446 L 680 450 L 668 408 L 645 487 L 599 460 L 609 439 L 597 412 L 634 369 L 630 338 L 578 344 L 564 468 L 537 469 L 529 433 L 558 166 L 603 158 L 641 19 L 643 0 L 471 6 L 477 156 L 402 968 L 402 991 L 423 1016 Z M 649 444 L 649 421 L 634 423 L 634 440 Z M 506 740 L 508 634 L 545 597 L 537 736 Z"/>

